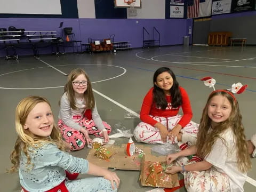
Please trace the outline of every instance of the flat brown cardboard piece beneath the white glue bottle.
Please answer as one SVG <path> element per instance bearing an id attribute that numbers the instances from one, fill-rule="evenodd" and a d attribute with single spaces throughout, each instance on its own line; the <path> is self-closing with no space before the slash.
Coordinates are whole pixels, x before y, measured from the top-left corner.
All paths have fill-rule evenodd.
<path id="1" fill-rule="evenodd" d="M 96 149 L 91 149 L 86 159 L 95 165 L 104 168 L 115 168 L 119 170 L 134 170 L 140 171 L 142 158 L 139 154 L 128 156 L 126 154 L 126 144 L 122 146 L 105 145 L 103 147 L 111 148 L 114 154 L 109 159 L 100 159 L 94 155 Z M 151 154 L 151 148 L 143 145 L 135 145 L 135 147 L 141 148 L 145 154 Z"/>

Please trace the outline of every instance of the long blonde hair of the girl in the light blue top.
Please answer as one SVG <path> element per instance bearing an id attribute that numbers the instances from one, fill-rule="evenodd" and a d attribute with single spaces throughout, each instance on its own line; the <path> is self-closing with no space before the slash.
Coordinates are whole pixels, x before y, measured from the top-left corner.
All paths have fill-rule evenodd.
<path id="1" fill-rule="evenodd" d="M 29 153 L 31 153 L 32 151 L 29 150 L 29 147 L 39 148 L 42 147 L 45 143 L 53 143 L 57 145 L 60 150 L 65 150 L 60 131 L 59 129 L 57 129 L 56 125 L 53 126 L 50 137 L 40 137 L 32 134 L 28 129 L 23 129 L 23 125 L 25 125 L 28 114 L 31 110 L 34 109 L 34 107 L 38 103 L 41 102 L 46 102 L 51 107 L 47 99 L 38 96 L 30 96 L 24 98 L 19 102 L 18 106 L 16 107 L 15 129 L 18 134 L 18 138 L 15 142 L 14 150 L 10 155 L 11 163 L 13 164 L 13 166 L 7 172 L 12 173 L 18 170 L 21 151 L 23 151 L 23 153 L 27 156 L 27 167 L 31 165 L 31 158 L 29 156 Z"/>

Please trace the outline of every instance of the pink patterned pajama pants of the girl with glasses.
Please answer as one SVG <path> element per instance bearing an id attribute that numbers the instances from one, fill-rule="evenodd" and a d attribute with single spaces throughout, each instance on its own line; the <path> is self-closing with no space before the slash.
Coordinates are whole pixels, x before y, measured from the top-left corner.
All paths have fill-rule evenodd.
<path id="1" fill-rule="evenodd" d="M 89 134 L 93 134 L 96 137 L 102 137 L 102 133 L 100 134 L 101 130 L 98 130 L 98 127 L 95 126 L 93 120 L 89 120 L 84 117 L 76 123 L 84 127 L 89 132 Z M 111 126 L 106 122 L 103 122 L 103 125 L 109 134 L 111 132 Z M 86 140 L 83 133 L 65 125 L 61 119 L 58 121 L 58 126 L 62 137 L 65 139 L 65 141 L 70 143 L 71 150 L 80 150 L 84 148 Z"/>

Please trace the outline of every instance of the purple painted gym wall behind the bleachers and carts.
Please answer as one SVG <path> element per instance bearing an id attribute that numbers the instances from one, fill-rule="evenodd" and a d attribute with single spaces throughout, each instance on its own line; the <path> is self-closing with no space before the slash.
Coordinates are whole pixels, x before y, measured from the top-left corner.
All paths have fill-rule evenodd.
<path id="1" fill-rule="evenodd" d="M 115 34 L 115 41 L 129 41 L 132 47 L 142 47 L 142 27 L 145 27 L 153 39 L 153 27 L 161 34 L 161 45 L 182 44 L 183 36 L 188 34 L 186 19 L 52 19 L 52 18 L 0 18 L 0 28 L 14 26 L 26 31 L 57 30 L 61 36 L 60 22 L 64 27 L 73 27 L 76 40 L 87 43 L 91 38 L 108 38 Z M 137 23 L 138 21 L 138 23 Z M 66 52 L 71 49 L 66 49 Z M 40 49 L 40 54 L 50 53 L 51 48 Z M 31 50 L 18 49 L 19 55 L 33 54 Z M 5 51 L 0 50 L 0 57 Z"/>

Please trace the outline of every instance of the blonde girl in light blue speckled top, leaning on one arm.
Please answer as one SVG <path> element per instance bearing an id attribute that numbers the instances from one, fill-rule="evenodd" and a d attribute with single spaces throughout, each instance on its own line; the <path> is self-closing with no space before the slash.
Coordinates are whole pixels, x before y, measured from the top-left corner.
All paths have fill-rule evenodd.
<path id="1" fill-rule="evenodd" d="M 13 166 L 9 172 L 18 170 L 22 191 L 117 191 L 116 173 L 64 151 L 50 103 L 45 98 L 22 99 L 16 108 L 15 128 L 18 138 L 10 156 Z M 74 180 L 78 173 L 102 177 Z"/>

